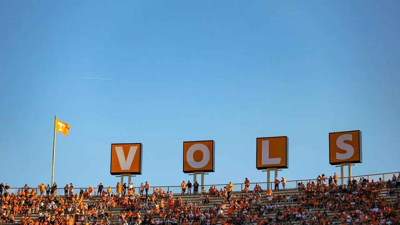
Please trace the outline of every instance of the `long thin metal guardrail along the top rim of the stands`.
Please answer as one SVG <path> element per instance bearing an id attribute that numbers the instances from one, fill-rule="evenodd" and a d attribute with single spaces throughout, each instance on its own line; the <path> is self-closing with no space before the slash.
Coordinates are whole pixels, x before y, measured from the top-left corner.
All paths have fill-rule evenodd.
<path id="1" fill-rule="evenodd" d="M 351 179 L 352 179 L 352 178 L 356 178 L 356 180 L 358 181 L 360 177 L 365 177 L 365 178 L 366 178 L 367 180 L 369 180 L 370 182 L 371 182 L 372 180 L 374 180 L 374 181 L 376 182 L 376 181 L 379 180 L 379 178 L 382 178 L 382 180 L 386 182 L 387 179 L 388 179 L 388 177 L 389 177 L 390 180 L 392 180 L 393 174 L 395 174 L 395 175 L 398 176 L 398 175 L 400 175 L 400 172 L 378 173 L 378 174 L 369 174 L 369 175 L 357 175 L 357 176 L 352 176 L 352 177 L 350 177 L 350 178 L 351 178 Z M 386 175 L 386 176 L 385 176 L 385 175 Z M 385 177 L 386 177 L 386 179 L 385 179 Z M 339 178 L 338 178 L 338 185 L 342 185 L 342 183 L 340 182 L 340 181 L 341 181 L 341 178 L 344 178 L 344 179 L 345 179 L 345 180 L 344 180 L 344 183 L 347 183 L 347 180 L 348 180 L 349 177 L 339 177 Z M 306 180 L 292 180 L 292 181 L 286 181 L 285 189 L 297 189 L 298 183 L 303 182 L 304 185 L 306 185 L 306 183 L 307 183 L 308 181 L 310 181 L 310 182 L 314 181 L 314 183 L 317 183 L 317 179 L 316 179 L 316 178 L 315 178 L 315 179 L 306 179 Z M 326 183 L 328 183 L 328 179 L 326 179 Z M 213 187 L 213 188 L 216 187 L 218 190 L 220 190 L 220 189 L 224 189 L 224 187 L 226 187 L 227 185 L 229 185 L 229 184 L 228 184 L 228 183 L 225 183 L 225 184 L 212 184 L 212 185 L 204 185 L 204 187 L 206 188 L 206 192 L 208 193 L 208 189 L 209 189 L 210 187 Z M 274 190 L 275 183 L 274 183 L 274 182 L 256 182 L 256 183 L 250 183 L 249 191 L 253 191 L 253 188 L 254 188 L 256 185 L 260 185 L 260 187 L 261 187 L 262 190 L 266 190 L 266 189 L 268 189 L 268 188 Z M 233 184 L 233 191 L 234 191 L 234 192 L 241 192 L 242 190 L 244 190 L 244 187 L 245 187 L 244 183 L 234 183 L 234 184 Z M 201 193 L 201 188 L 202 188 L 202 187 L 199 186 L 199 193 Z M 8 192 L 9 192 L 9 193 L 14 193 L 14 194 L 16 194 L 16 193 L 18 192 L 18 190 L 22 190 L 22 189 L 24 189 L 24 188 L 23 188 L 23 187 L 22 187 L 22 188 L 10 188 L 10 189 L 8 190 Z M 30 189 L 32 189 L 32 188 L 30 188 Z M 36 187 L 33 188 L 33 189 L 36 189 L 36 194 L 40 195 L 40 192 L 38 191 L 38 189 L 37 189 Z M 80 193 L 80 190 L 85 191 L 86 189 L 89 189 L 89 188 L 88 188 L 88 187 L 78 187 L 78 188 L 74 188 L 74 194 L 79 194 L 79 193 Z M 108 189 L 108 188 L 104 188 L 103 191 L 107 191 L 107 189 Z M 114 192 L 115 194 L 117 193 L 117 192 L 116 192 L 116 187 L 112 187 L 111 189 L 112 189 L 112 192 Z M 154 191 L 155 191 L 156 189 L 162 189 L 162 190 L 165 191 L 166 193 L 172 191 L 172 193 L 174 193 L 174 194 L 180 194 L 180 193 L 182 192 L 182 187 L 181 187 L 181 186 L 154 186 L 154 187 L 150 187 L 148 193 L 149 193 L 149 194 L 152 194 L 152 193 L 154 193 Z M 282 183 L 279 184 L 279 189 L 282 189 Z M 92 196 L 96 196 L 97 190 L 98 190 L 98 187 L 93 187 Z M 46 193 L 46 192 L 45 192 L 45 193 Z M 60 196 L 64 196 L 64 188 L 63 188 L 63 187 L 62 187 L 62 188 L 57 188 L 57 193 L 58 193 L 58 195 L 60 195 Z M 68 191 L 68 193 L 69 193 L 69 191 Z M 139 187 L 135 187 L 135 193 L 136 193 L 136 194 L 139 193 Z M 145 193 L 146 193 L 146 192 L 144 191 L 144 194 L 145 194 Z M 186 189 L 186 193 L 187 193 L 187 189 Z M 193 193 L 193 187 L 192 187 L 192 193 Z M 4 194 L 4 190 L 3 190 L 3 194 Z M 101 193 L 100 193 L 100 195 L 101 195 Z"/>

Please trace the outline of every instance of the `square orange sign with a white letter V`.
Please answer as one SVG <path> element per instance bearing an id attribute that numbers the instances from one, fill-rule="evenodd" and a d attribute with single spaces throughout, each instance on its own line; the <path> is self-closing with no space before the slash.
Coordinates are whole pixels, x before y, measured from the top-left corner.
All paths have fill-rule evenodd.
<path id="1" fill-rule="evenodd" d="M 142 143 L 111 144 L 111 175 L 142 174 Z"/>

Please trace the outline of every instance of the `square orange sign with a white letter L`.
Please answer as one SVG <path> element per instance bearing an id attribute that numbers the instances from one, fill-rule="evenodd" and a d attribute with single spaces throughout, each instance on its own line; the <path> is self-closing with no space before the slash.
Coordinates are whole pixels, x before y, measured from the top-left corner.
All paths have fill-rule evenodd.
<path id="1" fill-rule="evenodd" d="M 257 138 L 256 168 L 289 168 L 289 138 L 287 136 Z"/>

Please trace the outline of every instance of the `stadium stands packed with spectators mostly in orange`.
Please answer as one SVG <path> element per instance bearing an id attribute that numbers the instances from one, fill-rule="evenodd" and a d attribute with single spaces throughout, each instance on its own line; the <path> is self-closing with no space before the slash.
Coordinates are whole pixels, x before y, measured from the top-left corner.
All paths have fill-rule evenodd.
<path id="1" fill-rule="evenodd" d="M 52 196 L 54 192 L 47 192 L 49 188 L 41 185 L 38 189 L 26 185 L 20 190 L 9 189 L 8 193 L 3 188 L 0 223 L 398 225 L 400 173 L 386 180 L 374 182 L 360 177 L 336 185 L 334 179 L 322 175 L 284 190 L 261 190 L 260 185 L 245 181 L 240 185 L 242 190 L 233 190 L 232 184 L 219 190 L 218 185 L 213 185 L 196 195 L 172 194 L 169 187 L 166 191 L 161 187 L 152 191 L 150 187 L 148 195 L 138 195 L 138 187 L 124 190 L 118 183 L 117 188 L 109 187 L 100 195 L 91 196 L 96 189 L 89 187 L 74 193 L 67 185 L 67 197 Z M 49 196 L 41 197 L 40 189 Z"/>

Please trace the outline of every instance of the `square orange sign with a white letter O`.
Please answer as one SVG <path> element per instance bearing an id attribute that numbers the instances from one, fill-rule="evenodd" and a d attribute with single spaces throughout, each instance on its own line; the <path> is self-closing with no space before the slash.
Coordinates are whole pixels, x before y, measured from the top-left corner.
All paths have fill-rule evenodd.
<path id="1" fill-rule="evenodd" d="M 214 172 L 214 141 L 185 141 L 183 143 L 183 172 Z"/>

